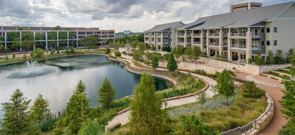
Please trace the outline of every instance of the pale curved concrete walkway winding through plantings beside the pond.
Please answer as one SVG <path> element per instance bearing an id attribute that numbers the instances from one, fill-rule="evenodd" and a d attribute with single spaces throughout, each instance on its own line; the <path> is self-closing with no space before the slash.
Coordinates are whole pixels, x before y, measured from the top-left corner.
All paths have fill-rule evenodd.
<path id="1" fill-rule="evenodd" d="M 126 60 L 126 59 L 124 59 Z M 131 60 L 127 60 L 129 61 L 130 63 Z M 131 66 L 134 66 L 133 63 L 131 64 Z M 137 67 L 139 68 L 139 67 Z M 167 70 L 167 69 L 163 69 L 163 68 L 157 68 L 157 70 Z M 181 71 L 182 73 L 188 73 L 188 72 L 185 72 L 185 71 Z M 209 84 L 209 87 L 208 89 L 206 90 L 206 93 L 209 94 L 210 97 L 213 96 L 213 93 L 210 91 L 210 88 L 211 88 L 211 85 L 216 85 L 216 81 L 207 77 L 207 76 L 203 76 L 203 75 L 198 75 L 198 74 L 194 74 L 194 73 L 191 73 L 191 75 L 193 76 L 198 76 L 202 79 L 204 79 L 205 81 L 208 82 Z M 175 99 L 175 100 L 170 100 L 170 101 L 167 101 L 168 103 L 168 107 L 173 107 L 173 106 L 178 106 L 178 105 L 183 105 L 183 104 L 189 104 L 189 103 L 193 103 L 193 102 L 196 102 L 196 98 L 195 96 L 192 96 L 192 97 L 186 97 L 186 98 L 182 98 L 182 99 Z M 111 126 L 117 122 L 120 122 L 121 125 L 124 125 L 128 122 L 128 116 L 129 116 L 129 113 L 130 111 L 127 111 L 127 112 L 124 112 L 118 116 L 115 116 L 112 121 L 109 122 L 108 126 Z"/>

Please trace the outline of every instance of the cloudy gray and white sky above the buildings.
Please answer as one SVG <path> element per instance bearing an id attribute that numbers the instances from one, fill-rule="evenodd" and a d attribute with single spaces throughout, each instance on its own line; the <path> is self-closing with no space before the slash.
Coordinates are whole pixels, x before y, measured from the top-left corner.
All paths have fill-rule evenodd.
<path id="1" fill-rule="evenodd" d="M 250 0 L 0 0 L 0 26 L 99 27 L 142 32 L 157 24 L 229 12 Z M 253 0 L 262 6 L 292 0 Z"/>

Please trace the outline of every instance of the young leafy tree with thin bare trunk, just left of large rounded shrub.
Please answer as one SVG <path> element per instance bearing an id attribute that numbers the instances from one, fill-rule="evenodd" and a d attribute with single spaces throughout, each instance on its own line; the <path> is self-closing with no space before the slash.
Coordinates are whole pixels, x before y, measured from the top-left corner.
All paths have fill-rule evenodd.
<path id="1" fill-rule="evenodd" d="M 226 105 L 228 105 L 227 98 L 235 95 L 235 82 L 230 77 L 229 71 L 224 69 L 219 73 L 216 82 L 218 93 L 226 97 Z"/>

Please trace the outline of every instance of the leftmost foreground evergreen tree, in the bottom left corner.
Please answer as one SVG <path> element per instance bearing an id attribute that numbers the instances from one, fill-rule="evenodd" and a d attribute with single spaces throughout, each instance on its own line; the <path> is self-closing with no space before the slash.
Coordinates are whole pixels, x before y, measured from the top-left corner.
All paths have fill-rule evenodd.
<path id="1" fill-rule="evenodd" d="M 32 129 L 29 104 L 31 100 L 24 97 L 20 89 L 13 91 L 9 102 L 1 103 L 4 112 L 0 130 L 1 134 L 24 134 Z"/>

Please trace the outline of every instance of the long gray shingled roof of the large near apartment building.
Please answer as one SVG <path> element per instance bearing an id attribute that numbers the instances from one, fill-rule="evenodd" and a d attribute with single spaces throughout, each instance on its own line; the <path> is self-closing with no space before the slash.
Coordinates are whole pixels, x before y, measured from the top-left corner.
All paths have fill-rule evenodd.
<path id="1" fill-rule="evenodd" d="M 190 29 L 249 26 L 253 23 L 261 21 L 271 21 L 293 2 L 294 1 L 272 6 L 260 7 L 256 9 L 202 17 L 192 23 L 178 27 L 176 29 L 188 28 L 197 24 L 199 25 Z"/>

